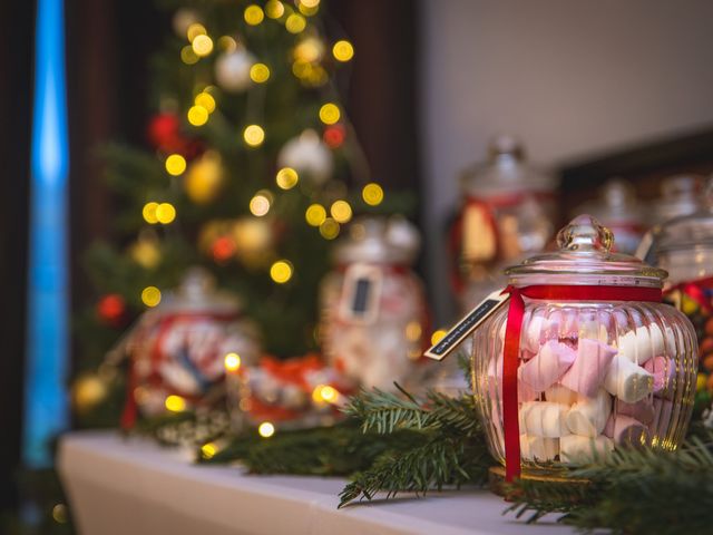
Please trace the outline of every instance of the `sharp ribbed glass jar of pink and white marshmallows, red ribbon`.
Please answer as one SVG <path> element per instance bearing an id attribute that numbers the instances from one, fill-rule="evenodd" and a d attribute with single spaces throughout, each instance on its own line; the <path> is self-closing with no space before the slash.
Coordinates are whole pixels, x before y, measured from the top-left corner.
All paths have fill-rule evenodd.
<path id="1" fill-rule="evenodd" d="M 660 302 L 666 272 L 611 252 L 611 231 L 588 215 L 557 243 L 506 270 L 509 304 L 473 334 L 473 388 L 492 455 L 512 474 L 520 461 L 546 471 L 623 445 L 675 449 L 691 417 L 697 349 L 691 322 Z"/>

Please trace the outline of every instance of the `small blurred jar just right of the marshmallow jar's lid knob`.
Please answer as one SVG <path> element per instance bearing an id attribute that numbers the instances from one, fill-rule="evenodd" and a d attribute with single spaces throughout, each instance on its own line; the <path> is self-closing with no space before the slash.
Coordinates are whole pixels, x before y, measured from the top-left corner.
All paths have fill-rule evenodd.
<path id="1" fill-rule="evenodd" d="M 607 181 L 599 197 L 575 210 L 578 214 L 592 214 L 615 236 L 615 250 L 634 254 L 646 230 L 644 208 L 636 198 L 634 186 L 621 178 Z"/>

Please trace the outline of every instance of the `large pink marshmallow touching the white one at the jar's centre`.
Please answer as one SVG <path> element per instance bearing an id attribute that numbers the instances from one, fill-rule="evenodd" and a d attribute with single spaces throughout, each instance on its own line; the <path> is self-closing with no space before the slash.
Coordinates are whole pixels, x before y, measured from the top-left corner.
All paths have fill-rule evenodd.
<path id="1" fill-rule="evenodd" d="M 615 354 L 616 349 L 597 340 L 583 338 L 579 340 L 577 359 L 559 382 L 569 390 L 592 398 L 604 382 Z"/>

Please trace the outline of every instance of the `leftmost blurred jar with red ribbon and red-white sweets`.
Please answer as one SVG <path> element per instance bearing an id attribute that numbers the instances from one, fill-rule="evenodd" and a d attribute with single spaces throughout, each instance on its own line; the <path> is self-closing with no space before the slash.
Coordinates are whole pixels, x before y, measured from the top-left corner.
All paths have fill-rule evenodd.
<path id="1" fill-rule="evenodd" d="M 256 360 L 260 339 L 241 314 L 238 299 L 218 291 L 202 269 L 188 270 L 178 289 L 147 310 L 109 361 L 129 359 L 124 427 L 146 417 L 211 409 L 224 402 L 224 360 Z"/>

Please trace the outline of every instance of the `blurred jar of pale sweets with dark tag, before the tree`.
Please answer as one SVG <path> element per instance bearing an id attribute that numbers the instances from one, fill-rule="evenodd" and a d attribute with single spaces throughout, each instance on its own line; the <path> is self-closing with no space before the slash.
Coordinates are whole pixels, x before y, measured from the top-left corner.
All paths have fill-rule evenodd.
<path id="1" fill-rule="evenodd" d="M 410 268 L 419 244 L 407 220 L 369 216 L 334 249 L 320 292 L 320 338 L 328 363 L 360 386 L 403 385 L 424 349 L 426 295 Z"/>

